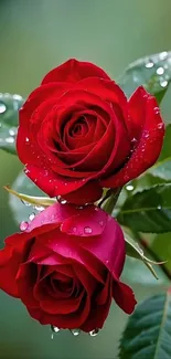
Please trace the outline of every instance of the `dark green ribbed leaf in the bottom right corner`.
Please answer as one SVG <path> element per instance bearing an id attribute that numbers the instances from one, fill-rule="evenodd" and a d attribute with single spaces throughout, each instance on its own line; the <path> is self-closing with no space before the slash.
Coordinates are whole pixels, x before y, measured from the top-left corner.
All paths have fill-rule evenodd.
<path id="1" fill-rule="evenodd" d="M 171 291 L 137 306 L 120 340 L 119 359 L 171 358 Z"/>

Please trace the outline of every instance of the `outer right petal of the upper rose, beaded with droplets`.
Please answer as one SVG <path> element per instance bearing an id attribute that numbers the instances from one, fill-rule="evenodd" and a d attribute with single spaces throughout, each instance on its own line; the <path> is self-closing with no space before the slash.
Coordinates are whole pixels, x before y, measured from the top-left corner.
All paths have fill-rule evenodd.
<path id="1" fill-rule="evenodd" d="M 116 175 L 101 180 L 103 187 L 122 187 L 151 167 L 160 155 L 164 135 L 164 124 L 160 116 L 156 98 L 151 95 L 147 95 L 147 93 L 145 97 L 143 88 L 139 87 L 130 98 L 130 105 L 131 108 L 137 108 L 137 113 L 135 113 L 141 116 L 145 109 L 145 101 L 146 119 L 137 147 L 124 168 Z"/>

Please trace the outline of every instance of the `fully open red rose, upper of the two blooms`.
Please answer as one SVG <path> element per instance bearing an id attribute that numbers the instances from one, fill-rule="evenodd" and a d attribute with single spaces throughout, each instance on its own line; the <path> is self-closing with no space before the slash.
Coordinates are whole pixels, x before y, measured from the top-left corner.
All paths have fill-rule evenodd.
<path id="1" fill-rule="evenodd" d="M 164 125 L 139 87 L 129 101 L 99 67 L 70 60 L 52 70 L 20 110 L 17 148 L 25 173 L 50 197 L 90 203 L 151 167 Z"/>

